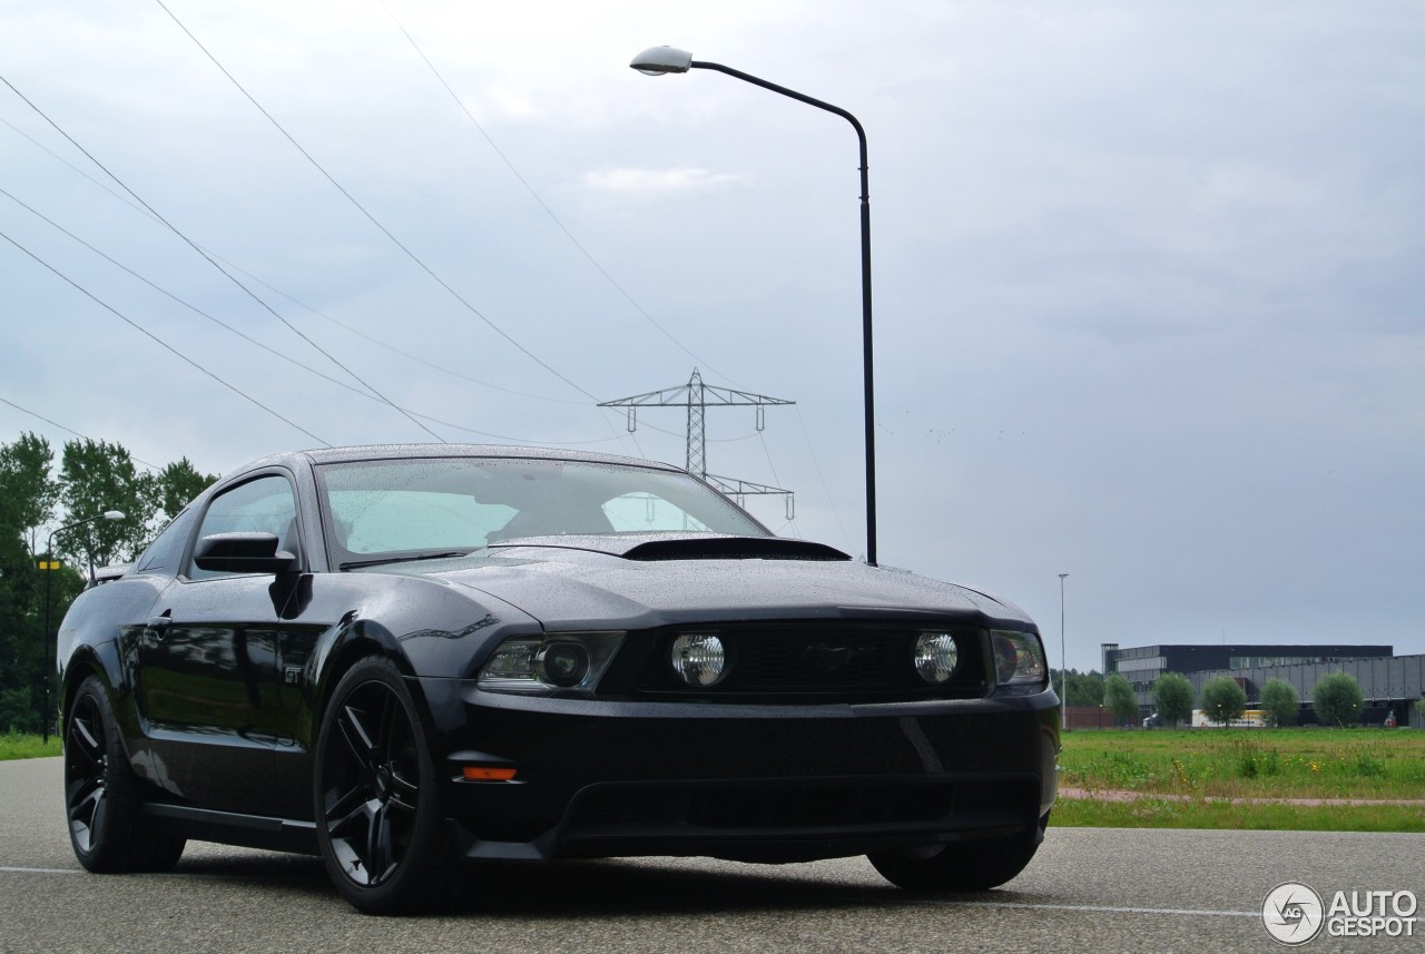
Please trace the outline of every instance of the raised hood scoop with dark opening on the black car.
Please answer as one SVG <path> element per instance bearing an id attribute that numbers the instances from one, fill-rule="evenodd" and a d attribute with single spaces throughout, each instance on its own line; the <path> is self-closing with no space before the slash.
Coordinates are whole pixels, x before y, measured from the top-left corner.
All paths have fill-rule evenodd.
<path id="1" fill-rule="evenodd" d="M 851 557 L 835 547 L 784 537 L 735 537 L 730 534 L 651 533 L 618 535 L 523 537 L 502 540 L 490 550 L 540 547 L 589 550 L 593 552 L 660 562 L 674 560 L 812 560 L 845 562 Z"/>

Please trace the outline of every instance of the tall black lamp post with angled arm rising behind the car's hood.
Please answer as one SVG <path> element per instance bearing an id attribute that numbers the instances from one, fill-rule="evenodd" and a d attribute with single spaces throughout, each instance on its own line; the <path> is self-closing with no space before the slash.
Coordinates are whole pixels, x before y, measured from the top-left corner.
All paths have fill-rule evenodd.
<path id="1" fill-rule="evenodd" d="M 758 77 L 742 73 L 741 70 L 734 70 L 725 67 L 720 63 L 705 63 L 701 60 L 694 60 L 693 54 L 685 50 L 677 50 L 674 47 L 650 47 L 633 58 L 628 64 L 638 73 L 646 75 L 664 75 L 667 73 L 687 73 L 688 70 L 717 70 L 718 73 L 725 73 L 730 77 L 735 77 L 752 85 L 760 85 L 764 90 L 771 90 L 772 93 L 779 93 L 792 100 L 798 100 L 808 105 L 814 105 L 818 110 L 825 110 L 826 112 L 835 112 L 841 118 L 846 120 L 851 127 L 856 131 L 856 140 L 861 144 L 861 363 L 862 363 L 862 394 L 865 403 L 865 429 L 866 429 L 866 562 L 872 567 L 876 565 L 876 434 L 875 434 L 875 382 L 872 374 L 872 347 L 871 347 L 871 185 L 866 165 L 866 131 L 861 128 L 861 122 L 856 117 L 851 115 L 841 107 L 831 105 L 829 103 L 822 103 L 821 100 L 814 100 L 812 97 L 797 93 L 795 90 L 788 90 L 784 85 L 777 85 L 775 83 L 768 83 Z"/>

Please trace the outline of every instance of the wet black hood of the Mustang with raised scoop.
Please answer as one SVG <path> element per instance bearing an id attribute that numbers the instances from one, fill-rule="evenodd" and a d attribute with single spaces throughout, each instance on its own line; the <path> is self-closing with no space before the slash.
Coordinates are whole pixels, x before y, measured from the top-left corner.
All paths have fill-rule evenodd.
<path id="1" fill-rule="evenodd" d="M 1013 604 L 976 589 L 868 567 L 831 547 L 778 537 L 536 537 L 378 572 L 489 594 L 549 631 L 891 617 L 1032 625 Z"/>

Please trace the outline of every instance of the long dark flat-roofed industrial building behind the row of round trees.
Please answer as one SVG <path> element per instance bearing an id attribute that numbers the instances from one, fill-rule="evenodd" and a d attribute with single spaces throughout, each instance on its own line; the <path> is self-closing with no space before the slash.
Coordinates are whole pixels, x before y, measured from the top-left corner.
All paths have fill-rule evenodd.
<path id="1" fill-rule="evenodd" d="M 1379 722 L 1394 712 L 1399 725 L 1422 726 L 1415 701 L 1425 695 L 1425 655 L 1396 656 L 1394 646 L 1361 645 L 1171 645 L 1133 646 L 1103 644 L 1103 673 L 1120 673 L 1133 686 L 1144 712 L 1153 708 L 1153 682 L 1164 672 L 1180 672 L 1193 688 L 1214 676 L 1235 679 L 1247 691 L 1248 705 L 1261 699 L 1268 679 L 1290 682 L 1310 716 L 1317 681 L 1345 672 L 1361 685 L 1365 722 Z M 1305 720 L 1310 720 L 1305 719 Z"/>

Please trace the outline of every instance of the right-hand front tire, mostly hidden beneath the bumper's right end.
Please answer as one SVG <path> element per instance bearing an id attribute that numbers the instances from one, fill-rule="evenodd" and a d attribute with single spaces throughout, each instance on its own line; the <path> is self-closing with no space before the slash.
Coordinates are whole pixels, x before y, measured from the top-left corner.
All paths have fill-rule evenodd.
<path id="1" fill-rule="evenodd" d="M 908 891 L 988 891 L 1012 880 L 1039 850 L 1046 814 L 1027 833 L 868 854 L 885 880 Z"/>

